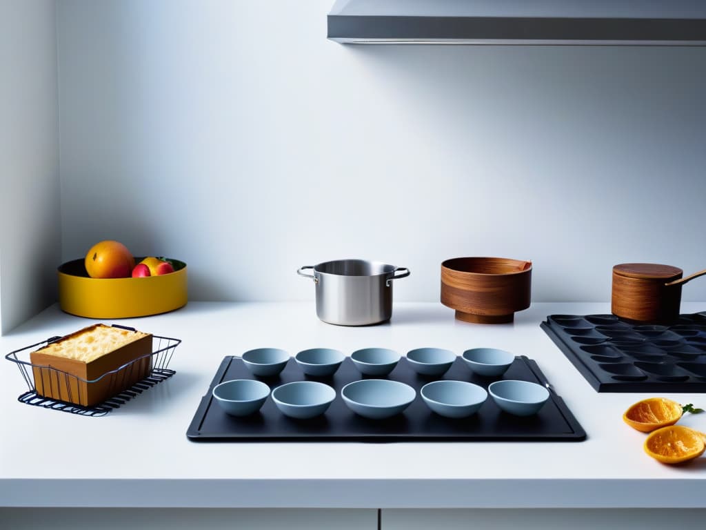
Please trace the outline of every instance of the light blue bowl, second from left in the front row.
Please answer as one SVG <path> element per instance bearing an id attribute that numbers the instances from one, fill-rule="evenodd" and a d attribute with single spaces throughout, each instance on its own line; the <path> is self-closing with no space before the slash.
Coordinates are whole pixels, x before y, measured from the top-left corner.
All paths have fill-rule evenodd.
<path id="1" fill-rule="evenodd" d="M 300 420 L 321 416 L 335 397 L 333 388 L 316 381 L 295 381 L 272 391 L 272 399 L 280 412 Z"/>

